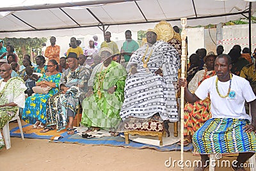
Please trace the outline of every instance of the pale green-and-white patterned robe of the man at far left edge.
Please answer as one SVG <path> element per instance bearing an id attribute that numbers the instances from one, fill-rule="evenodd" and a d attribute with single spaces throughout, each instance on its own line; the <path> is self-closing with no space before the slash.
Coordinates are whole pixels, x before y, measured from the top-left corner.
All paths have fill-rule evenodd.
<path id="1" fill-rule="evenodd" d="M 1 91 L 0 91 L 0 105 L 14 102 L 17 104 L 16 107 L 1 107 L 0 108 L 0 149 L 4 147 L 4 140 L 1 135 L 1 130 L 8 121 L 10 121 L 19 107 L 24 107 L 25 94 L 24 91 L 27 89 L 24 81 L 19 77 L 10 78 L 4 85 L 3 79 L 0 80 Z"/>

